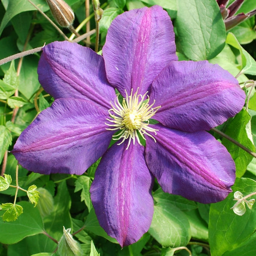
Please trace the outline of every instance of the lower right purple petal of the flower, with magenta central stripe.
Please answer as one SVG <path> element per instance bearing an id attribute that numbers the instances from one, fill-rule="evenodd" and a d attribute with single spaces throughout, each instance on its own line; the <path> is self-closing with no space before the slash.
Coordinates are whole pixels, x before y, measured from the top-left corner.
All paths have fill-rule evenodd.
<path id="1" fill-rule="evenodd" d="M 145 159 L 163 191 L 201 203 L 227 197 L 235 164 L 227 149 L 206 131 L 185 133 L 156 125 L 156 143 L 146 139 Z"/>

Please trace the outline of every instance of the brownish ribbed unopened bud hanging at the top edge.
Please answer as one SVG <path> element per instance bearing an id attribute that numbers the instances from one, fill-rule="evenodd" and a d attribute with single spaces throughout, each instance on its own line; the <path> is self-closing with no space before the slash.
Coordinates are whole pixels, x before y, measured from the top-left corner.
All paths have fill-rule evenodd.
<path id="1" fill-rule="evenodd" d="M 71 7 L 66 2 L 64 2 L 64 0 L 46 1 L 50 7 L 52 16 L 60 26 L 68 27 L 73 23 L 75 19 L 74 12 Z"/>

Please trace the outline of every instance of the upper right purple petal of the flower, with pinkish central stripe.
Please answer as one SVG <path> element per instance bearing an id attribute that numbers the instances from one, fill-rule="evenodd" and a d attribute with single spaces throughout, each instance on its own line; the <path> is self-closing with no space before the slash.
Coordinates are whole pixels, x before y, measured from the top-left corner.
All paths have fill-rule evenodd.
<path id="1" fill-rule="evenodd" d="M 181 131 L 209 130 L 235 116 L 245 93 L 238 81 L 208 61 L 173 61 L 154 80 L 150 100 L 161 108 L 154 119 Z"/>

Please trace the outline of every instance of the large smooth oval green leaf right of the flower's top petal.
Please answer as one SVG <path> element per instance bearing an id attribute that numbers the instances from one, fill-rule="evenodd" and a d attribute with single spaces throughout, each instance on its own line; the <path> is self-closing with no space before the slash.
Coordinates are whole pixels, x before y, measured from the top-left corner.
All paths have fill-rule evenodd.
<path id="1" fill-rule="evenodd" d="M 178 0 L 177 34 L 194 61 L 214 58 L 225 46 L 226 29 L 216 0 Z"/>

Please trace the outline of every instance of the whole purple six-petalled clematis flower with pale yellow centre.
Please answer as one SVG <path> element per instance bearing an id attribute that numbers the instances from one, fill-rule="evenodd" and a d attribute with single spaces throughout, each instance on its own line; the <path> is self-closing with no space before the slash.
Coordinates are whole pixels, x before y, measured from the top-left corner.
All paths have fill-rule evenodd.
<path id="1" fill-rule="evenodd" d="M 154 177 L 165 192 L 202 203 L 231 192 L 235 164 L 205 130 L 238 113 L 245 94 L 218 65 L 177 61 L 172 22 L 160 6 L 116 17 L 102 53 L 67 41 L 43 48 L 39 81 L 55 102 L 12 152 L 42 174 L 81 175 L 102 157 L 93 207 L 125 246 L 151 224 Z"/>

